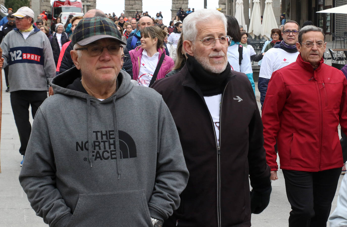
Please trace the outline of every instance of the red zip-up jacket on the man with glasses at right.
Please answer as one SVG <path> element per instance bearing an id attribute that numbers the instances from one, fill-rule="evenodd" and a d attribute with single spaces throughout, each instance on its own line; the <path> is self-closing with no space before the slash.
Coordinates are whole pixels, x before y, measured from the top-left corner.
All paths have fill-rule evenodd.
<path id="1" fill-rule="evenodd" d="M 273 72 L 262 111 L 264 148 L 271 171 L 280 168 L 316 172 L 342 167 L 337 126 L 347 133 L 347 81 L 325 65 L 315 70 L 301 54 Z"/>

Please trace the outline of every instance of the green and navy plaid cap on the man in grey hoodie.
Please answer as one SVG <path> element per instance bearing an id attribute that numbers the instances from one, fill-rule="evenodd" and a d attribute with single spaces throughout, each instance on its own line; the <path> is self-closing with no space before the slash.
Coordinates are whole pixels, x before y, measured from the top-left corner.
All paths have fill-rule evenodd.
<path id="1" fill-rule="evenodd" d="M 122 41 L 121 34 L 115 23 L 105 17 L 90 17 L 80 20 L 72 34 L 71 42 L 73 45 L 78 43 L 84 46 L 103 38 L 112 38 L 126 45 Z"/>

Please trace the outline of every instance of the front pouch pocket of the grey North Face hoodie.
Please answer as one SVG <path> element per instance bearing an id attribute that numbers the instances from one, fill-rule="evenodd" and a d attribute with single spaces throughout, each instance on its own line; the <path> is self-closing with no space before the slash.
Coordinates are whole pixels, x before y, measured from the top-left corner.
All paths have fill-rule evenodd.
<path id="1" fill-rule="evenodd" d="M 153 226 L 145 191 L 79 194 L 67 227 Z"/>

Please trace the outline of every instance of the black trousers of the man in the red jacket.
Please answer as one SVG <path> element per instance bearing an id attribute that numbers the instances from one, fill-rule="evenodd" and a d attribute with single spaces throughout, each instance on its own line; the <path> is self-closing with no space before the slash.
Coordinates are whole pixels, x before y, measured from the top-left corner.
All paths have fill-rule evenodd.
<path id="1" fill-rule="evenodd" d="M 284 170 L 292 211 L 289 227 L 326 227 L 341 168 L 319 172 Z"/>

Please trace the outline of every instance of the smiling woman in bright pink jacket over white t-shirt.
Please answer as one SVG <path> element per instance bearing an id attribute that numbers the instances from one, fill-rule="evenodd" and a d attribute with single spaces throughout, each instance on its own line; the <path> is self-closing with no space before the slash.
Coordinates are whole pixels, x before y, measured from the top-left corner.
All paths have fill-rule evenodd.
<path id="1" fill-rule="evenodd" d="M 141 46 L 129 51 L 133 63 L 133 79 L 141 86 L 150 85 L 157 67 L 160 67 L 159 72 L 153 80 L 165 77 L 174 67 L 174 60 L 165 55 L 163 46 L 165 36 L 166 32 L 157 26 L 145 27 L 141 31 Z M 163 54 L 164 59 L 159 65 L 158 62 Z"/>

